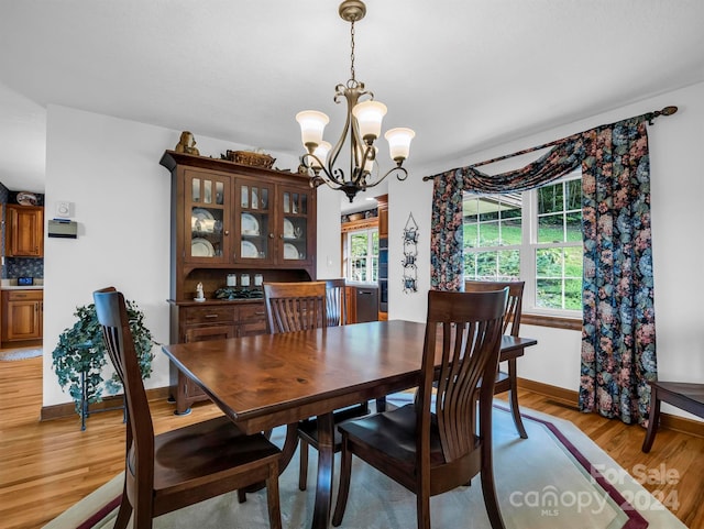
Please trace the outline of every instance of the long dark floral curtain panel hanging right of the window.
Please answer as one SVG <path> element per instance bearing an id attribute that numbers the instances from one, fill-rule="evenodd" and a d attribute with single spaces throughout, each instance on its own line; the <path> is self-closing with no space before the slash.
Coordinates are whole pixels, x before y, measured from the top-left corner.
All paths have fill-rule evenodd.
<path id="1" fill-rule="evenodd" d="M 585 134 L 580 409 L 646 425 L 657 379 L 646 121 Z"/>

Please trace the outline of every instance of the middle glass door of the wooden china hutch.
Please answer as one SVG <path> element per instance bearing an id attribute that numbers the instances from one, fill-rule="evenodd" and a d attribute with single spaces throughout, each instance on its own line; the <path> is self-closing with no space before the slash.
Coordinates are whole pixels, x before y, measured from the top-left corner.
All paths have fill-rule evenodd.
<path id="1" fill-rule="evenodd" d="M 237 186 L 240 244 L 235 249 L 235 257 L 244 262 L 271 261 L 272 186 L 248 179 L 238 179 Z"/>

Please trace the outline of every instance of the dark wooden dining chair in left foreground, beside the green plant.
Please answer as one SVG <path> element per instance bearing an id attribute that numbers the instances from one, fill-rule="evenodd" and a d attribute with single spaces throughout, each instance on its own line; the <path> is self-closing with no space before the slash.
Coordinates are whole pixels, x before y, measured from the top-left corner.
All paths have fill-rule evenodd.
<path id="1" fill-rule="evenodd" d="M 154 434 L 152 416 L 122 294 L 94 293 L 110 360 L 122 381 L 127 405 L 124 487 L 116 529 L 132 513 L 133 529 L 152 519 L 230 491 L 265 483 L 270 526 L 282 527 L 278 498 L 280 450 L 264 436 L 245 436 L 222 416 Z"/>

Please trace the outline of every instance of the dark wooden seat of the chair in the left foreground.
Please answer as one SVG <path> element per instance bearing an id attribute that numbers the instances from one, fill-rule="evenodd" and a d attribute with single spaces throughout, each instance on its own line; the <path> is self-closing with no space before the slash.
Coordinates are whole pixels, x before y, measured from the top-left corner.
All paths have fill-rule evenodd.
<path id="1" fill-rule="evenodd" d="M 223 474 L 243 474 L 248 464 L 265 469 L 262 463 L 280 453 L 264 436 L 246 436 L 224 416 L 198 422 L 155 436 L 154 489 L 158 495 L 184 483 L 217 482 Z"/>

